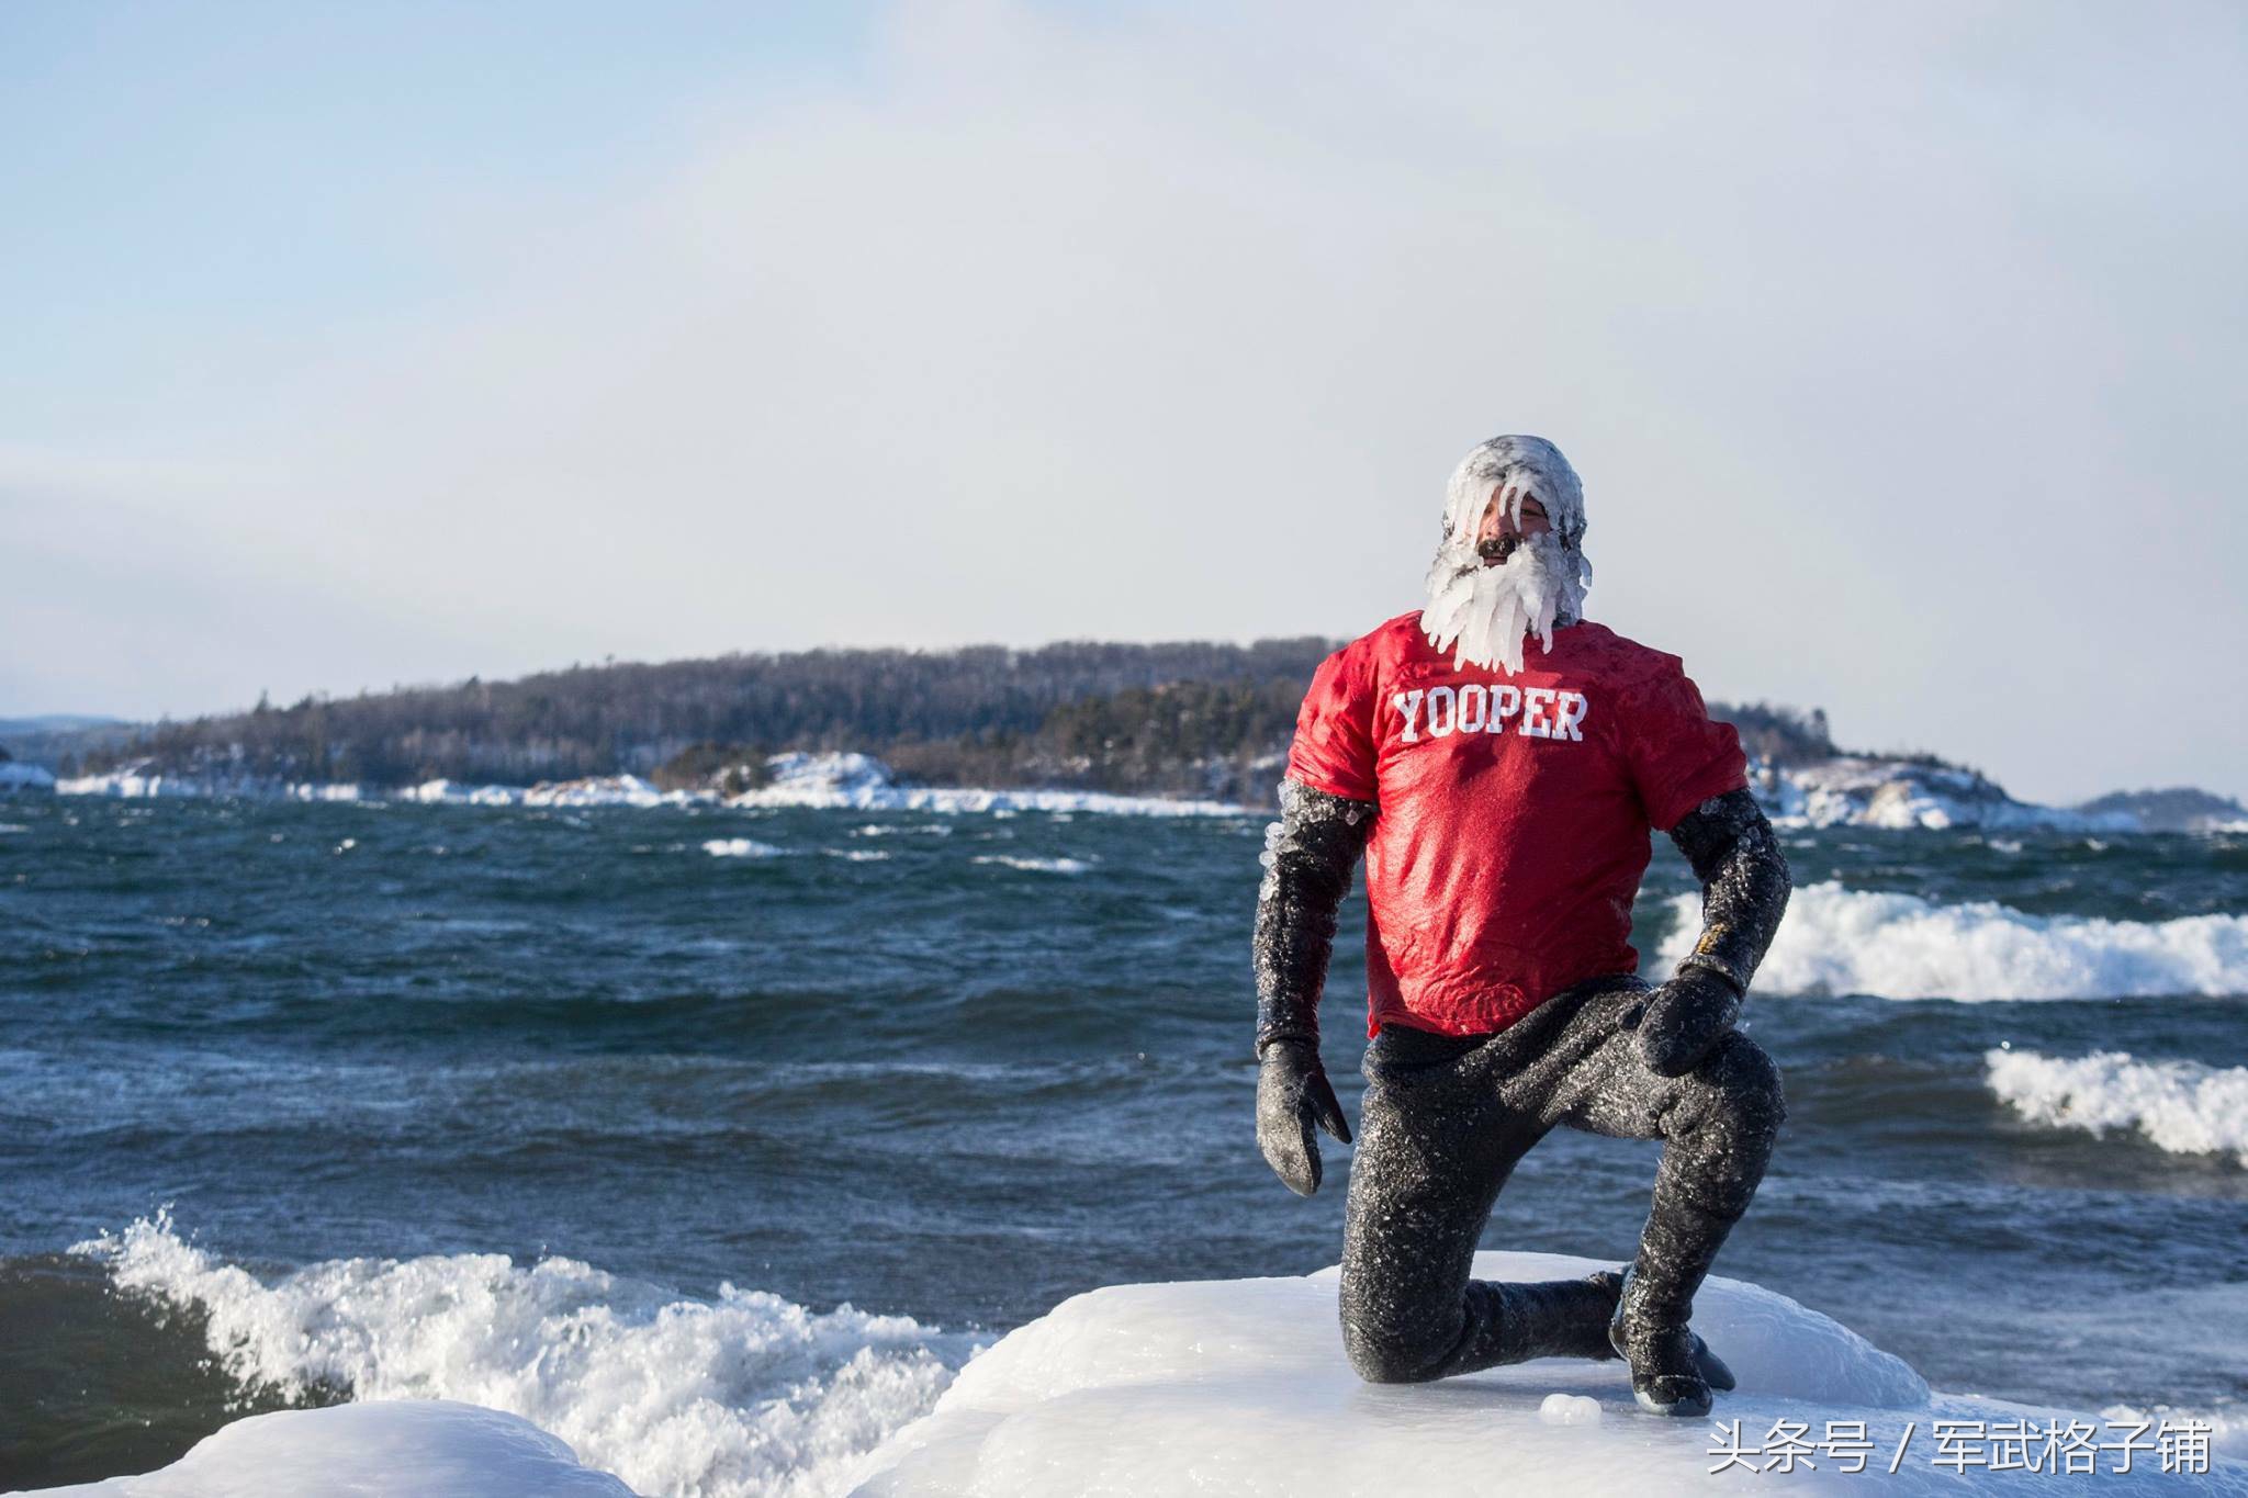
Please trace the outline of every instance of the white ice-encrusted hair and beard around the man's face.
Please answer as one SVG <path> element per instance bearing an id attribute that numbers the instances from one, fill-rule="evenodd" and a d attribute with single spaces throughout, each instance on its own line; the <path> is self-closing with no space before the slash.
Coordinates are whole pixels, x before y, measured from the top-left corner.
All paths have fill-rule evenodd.
<path id="1" fill-rule="evenodd" d="M 1513 492 L 1515 526 L 1522 501 L 1544 505 L 1553 528 L 1513 541 L 1506 561 L 1486 566 L 1475 544 L 1493 494 Z M 1427 568 L 1427 606 L 1421 629 L 1452 665 L 1522 669 L 1524 640 L 1553 647 L 1556 624 L 1585 618 L 1585 492 L 1560 449 L 1544 438 L 1490 438 L 1454 469 L 1443 510 L 1443 544 Z"/>

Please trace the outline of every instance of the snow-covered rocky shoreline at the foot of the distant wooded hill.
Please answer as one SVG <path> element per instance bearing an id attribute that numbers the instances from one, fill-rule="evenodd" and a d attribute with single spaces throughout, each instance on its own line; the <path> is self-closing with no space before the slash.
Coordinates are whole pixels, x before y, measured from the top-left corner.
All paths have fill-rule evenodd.
<path id="1" fill-rule="evenodd" d="M 1059 788 L 962 788 L 899 784 L 872 755 L 787 752 L 767 759 L 769 784 L 740 795 L 719 791 L 659 791 L 638 775 L 596 775 L 542 782 L 537 786 L 470 786 L 432 779 L 418 786 L 360 786 L 328 782 L 277 782 L 227 775 L 162 775 L 148 764 L 49 779 L 56 795 L 99 797 L 250 797 L 290 802 L 411 802 L 429 806 L 731 806 L 825 811 L 1068 811 L 1095 815 L 1158 817 L 1250 817 L 1268 809 L 1232 802 L 1113 795 Z M 1861 826 L 1875 831 L 2059 831 L 2142 833 L 2147 824 L 2129 811 L 2070 811 L 2016 802 L 2003 786 L 1971 770 L 1927 766 L 1909 759 L 1846 755 L 1812 766 L 1756 766 L 1751 788 L 1771 822 L 1783 829 Z M 2212 822 L 2203 831 L 2248 831 L 2248 822 Z"/>

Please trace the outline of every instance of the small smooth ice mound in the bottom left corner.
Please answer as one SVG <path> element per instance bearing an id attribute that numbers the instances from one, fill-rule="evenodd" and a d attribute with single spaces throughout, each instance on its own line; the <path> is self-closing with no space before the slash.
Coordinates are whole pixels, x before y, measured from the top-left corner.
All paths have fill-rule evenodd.
<path id="1" fill-rule="evenodd" d="M 450 1399 L 252 1415 L 171 1467 L 47 1494 L 83 1498 L 632 1498 L 528 1419 Z"/>

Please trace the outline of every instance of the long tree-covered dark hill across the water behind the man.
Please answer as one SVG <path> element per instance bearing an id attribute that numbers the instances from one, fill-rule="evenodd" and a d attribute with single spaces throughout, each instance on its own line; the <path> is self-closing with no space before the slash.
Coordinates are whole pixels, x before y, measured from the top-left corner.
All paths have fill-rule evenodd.
<path id="1" fill-rule="evenodd" d="M 865 750 L 906 779 L 1270 800 L 1335 640 L 816 649 L 600 665 L 155 723 L 56 768 L 402 786 L 632 770 L 701 784 L 776 750 Z M 1753 755 L 1834 752 L 1819 712 L 1713 705 Z"/>

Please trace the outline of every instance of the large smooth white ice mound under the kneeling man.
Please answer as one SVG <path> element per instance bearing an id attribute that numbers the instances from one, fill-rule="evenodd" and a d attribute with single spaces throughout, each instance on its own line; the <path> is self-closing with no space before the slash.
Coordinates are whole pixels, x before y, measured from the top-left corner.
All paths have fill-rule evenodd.
<path id="1" fill-rule="evenodd" d="M 1549 1280 L 1598 1269 L 1556 1253 L 1477 1253 L 1475 1271 Z M 1931 1458 L 1933 1419 L 2088 1419 L 2066 1410 L 1931 1395 L 1895 1357 L 1787 1296 L 1711 1278 L 1695 1325 L 1731 1361 L 1740 1390 L 1717 1422 L 1756 1446 L 1774 1422 L 1861 1419 L 1864 1473 L 1816 1453 L 1812 1469 L 1722 1462 L 1713 1422 L 1641 1415 L 1621 1363 L 1547 1359 L 1421 1386 L 1362 1383 L 1342 1359 L 1335 1271 L 1299 1280 L 1124 1285 L 1054 1307 L 976 1357 L 937 1408 L 861 1467 L 861 1498 L 1023 1498 L 1030 1494 L 1239 1494 L 1369 1498 L 1466 1494 L 1646 1494 L 1706 1485 L 1783 1491 L 2075 1491 L 2082 1478 L 1951 1471 Z M 1596 1410 L 1596 1415 L 1594 1415 Z M 1913 1440 L 1886 1471 L 1904 1426 Z M 1756 1458 L 1762 1460 L 1762 1458 Z M 2102 1491 L 2248 1494 L 2248 1471 L 2129 1476 L 2100 1467 Z M 1873 1485 L 1866 1489 L 1864 1485 Z"/>

